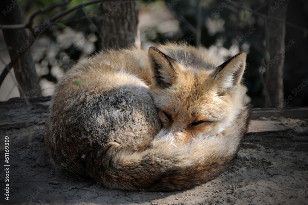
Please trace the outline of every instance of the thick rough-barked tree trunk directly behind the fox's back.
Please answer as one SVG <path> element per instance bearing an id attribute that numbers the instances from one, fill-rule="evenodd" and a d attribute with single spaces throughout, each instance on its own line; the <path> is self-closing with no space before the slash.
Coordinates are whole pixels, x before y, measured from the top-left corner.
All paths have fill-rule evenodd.
<path id="1" fill-rule="evenodd" d="M 140 48 L 138 26 L 138 1 L 110 1 L 101 4 L 103 15 L 102 44 L 103 49 Z"/>

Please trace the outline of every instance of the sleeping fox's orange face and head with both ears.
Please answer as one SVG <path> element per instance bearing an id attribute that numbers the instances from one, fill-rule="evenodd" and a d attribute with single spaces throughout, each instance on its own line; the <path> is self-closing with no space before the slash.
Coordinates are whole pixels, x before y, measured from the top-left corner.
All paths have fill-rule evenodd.
<path id="1" fill-rule="evenodd" d="M 245 52 L 219 65 L 207 50 L 163 51 L 151 47 L 148 52 L 151 93 L 163 127 L 186 144 L 201 133 L 215 135 L 232 126 L 245 105 Z"/>

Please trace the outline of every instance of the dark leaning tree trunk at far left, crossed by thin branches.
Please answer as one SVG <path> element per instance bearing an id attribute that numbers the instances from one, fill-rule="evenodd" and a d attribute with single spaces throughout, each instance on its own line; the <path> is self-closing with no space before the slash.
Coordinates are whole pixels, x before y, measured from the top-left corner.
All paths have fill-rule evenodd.
<path id="1" fill-rule="evenodd" d="M 19 6 L 18 4 L 15 5 L 13 1 L 2 0 L 0 3 L 0 11 L 2 13 L 0 15 L 0 23 L 2 25 L 22 24 Z M 32 42 L 27 42 L 29 41 L 28 34 L 24 28 L 3 29 L 2 31 L 11 59 L 20 56 L 23 49 L 32 44 Z M 30 49 L 18 59 L 18 62 L 14 65 L 14 73 L 21 97 L 42 96 L 39 77 L 35 70 Z"/>

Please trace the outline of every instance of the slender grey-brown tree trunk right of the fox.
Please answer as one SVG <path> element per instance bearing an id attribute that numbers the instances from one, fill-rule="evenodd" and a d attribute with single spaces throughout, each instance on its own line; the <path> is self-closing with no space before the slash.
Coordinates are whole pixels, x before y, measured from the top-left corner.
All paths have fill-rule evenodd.
<path id="1" fill-rule="evenodd" d="M 286 25 L 274 18 L 286 20 L 288 0 L 278 4 L 276 0 L 269 1 L 267 20 L 267 44 L 266 50 L 270 54 L 270 61 L 266 62 L 265 89 L 268 95 L 265 96 L 265 107 L 278 107 L 283 102 L 283 65 L 285 61 Z"/>

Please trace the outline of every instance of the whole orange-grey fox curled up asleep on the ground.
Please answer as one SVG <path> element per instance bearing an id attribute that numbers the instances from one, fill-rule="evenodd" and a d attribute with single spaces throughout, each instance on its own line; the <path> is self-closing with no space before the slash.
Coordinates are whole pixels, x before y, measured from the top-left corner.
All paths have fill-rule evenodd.
<path id="1" fill-rule="evenodd" d="M 57 84 L 46 143 L 70 176 L 123 190 L 182 190 L 215 178 L 248 128 L 246 54 L 186 44 L 110 50 Z"/>

